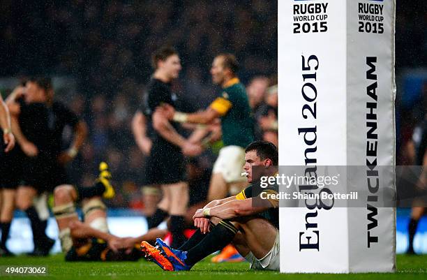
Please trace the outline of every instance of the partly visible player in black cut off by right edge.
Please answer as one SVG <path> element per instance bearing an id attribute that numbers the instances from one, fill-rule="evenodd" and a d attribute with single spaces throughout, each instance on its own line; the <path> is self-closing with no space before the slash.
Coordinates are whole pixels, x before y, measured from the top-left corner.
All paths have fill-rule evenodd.
<path id="1" fill-rule="evenodd" d="M 408 150 L 414 158 L 414 165 L 417 165 L 421 168 L 420 175 L 416 182 L 417 192 L 420 197 L 426 197 L 427 194 L 427 115 L 424 116 L 424 119 L 414 128 L 414 133 L 412 133 L 412 140 L 409 143 Z M 422 198 L 421 198 L 422 199 Z M 409 247 L 407 253 L 414 254 L 414 237 L 417 233 L 417 227 L 419 219 L 426 212 L 426 205 L 419 201 L 417 198 L 414 200 L 414 204 L 417 206 L 412 207 L 411 219 L 408 225 L 409 232 Z"/>

